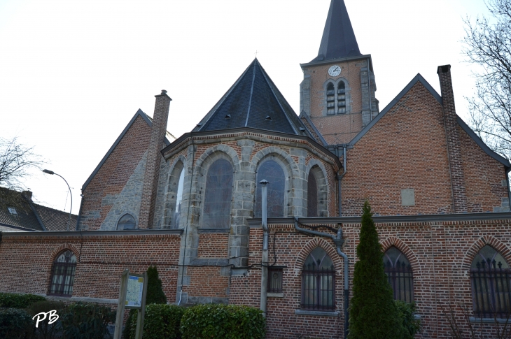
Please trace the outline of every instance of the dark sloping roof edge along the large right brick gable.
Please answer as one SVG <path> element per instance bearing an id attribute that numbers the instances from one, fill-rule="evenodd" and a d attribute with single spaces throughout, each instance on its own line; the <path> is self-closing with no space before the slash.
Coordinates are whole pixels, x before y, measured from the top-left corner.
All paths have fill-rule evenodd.
<path id="1" fill-rule="evenodd" d="M 433 89 L 433 87 L 429 85 L 429 83 L 426 81 L 426 79 L 423 78 L 423 76 L 420 73 L 417 73 L 417 75 L 415 75 L 412 81 L 410 81 L 408 85 L 406 85 L 406 87 L 403 88 L 402 91 L 397 96 L 395 96 L 395 98 L 390 103 L 388 103 L 388 105 L 383 110 L 381 110 L 381 112 L 376 117 L 374 117 L 374 119 L 369 124 L 367 124 L 367 126 L 362 131 L 360 131 L 360 133 L 357 134 L 355 138 L 353 138 L 353 140 L 349 142 L 349 145 L 350 146 L 355 145 L 358 142 L 358 140 L 360 140 L 367 133 L 367 131 L 369 131 L 374 126 L 374 124 L 377 124 L 377 122 L 379 122 L 379 120 L 382 117 L 384 117 L 384 115 L 386 115 L 386 113 L 389 110 L 391 110 L 391 108 L 393 108 L 395 104 L 398 103 L 398 101 L 400 101 L 402 97 L 405 96 L 405 94 L 407 94 L 407 92 L 409 92 L 409 90 L 412 89 L 412 87 L 417 82 L 420 82 L 424 87 L 426 87 L 428 92 L 430 92 L 430 94 L 433 95 L 433 97 L 440 103 L 440 105 L 443 105 L 442 96 L 440 96 L 440 94 L 438 94 L 435 91 L 435 89 Z M 470 129 L 470 127 L 468 127 L 467 124 L 465 124 L 461 117 L 458 117 L 458 124 L 468 134 L 468 136 L 470 136 L 470 138 L 472 138 L 475 141 L 475 143 L 477 143 L 477 145 L 479 145 L 479 147 L 482 148 L 482 150 L 486 154 L 488 154 L 493 159 L 499 161 L 505 167 L 511 168 L 509 160 L 505 159 L 500 154 L 491 150 L 490 147 L 488 147 L 488 145 L 486 145 L 483 142 L 483 140 L 481 140 L 481 138 L 479 138 L 477 134 L 475 134 L 475 132 L 472 131 L 472 129 Z"/>

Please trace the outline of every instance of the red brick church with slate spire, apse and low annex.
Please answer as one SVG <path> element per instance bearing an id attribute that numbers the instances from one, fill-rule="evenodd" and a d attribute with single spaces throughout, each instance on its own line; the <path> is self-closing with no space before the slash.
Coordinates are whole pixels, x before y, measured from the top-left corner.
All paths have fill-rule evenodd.
<path id="1" fill-rule="evenodd" d="M 174 140 L 162 90 L 83 185 L 76 231 L 1 233 L 0 290 L 116 307 L 123 270 L 153 264 L 169 303 L 260 308 L 271 339 L 345 338 L 367 200 L 416 338 L 450 338 L 459 305 L 474 324 L 507 318 L 511 164 L 456 115 L 450 66 L 434 66 L 440 94 L 417 74 L 380 110 L 371 55 L 331 0 L 300 112 L 254 59 Z"/>

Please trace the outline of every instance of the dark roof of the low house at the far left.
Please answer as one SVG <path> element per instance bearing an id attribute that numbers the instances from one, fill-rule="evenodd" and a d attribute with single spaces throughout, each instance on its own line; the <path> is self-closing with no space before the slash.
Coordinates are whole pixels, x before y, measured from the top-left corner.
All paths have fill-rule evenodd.
<path id="1" fill-rule="evenodd" d="M 0 189 L 17 194 L 23 207 L 13 212 L 8 210 L 8 206 L 0 208 L 0 226 L 3 231 L 66 231 L 69 212 L 38 205 L 31 200 L 31 193 L 27 196 L 11 189 Z M 77 215 L 71 215 L 71 231 L 76 228 L 77 218 Z"/>

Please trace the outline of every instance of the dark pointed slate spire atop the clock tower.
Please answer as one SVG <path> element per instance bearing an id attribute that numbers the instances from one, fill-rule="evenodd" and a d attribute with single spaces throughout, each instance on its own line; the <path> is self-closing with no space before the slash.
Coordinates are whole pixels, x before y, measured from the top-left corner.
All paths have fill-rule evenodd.
<path id="1" fill-rule="evenodd" d="M 312 62 L 360 55 L 344 0 L 332 0 L 318 56 Z"/>

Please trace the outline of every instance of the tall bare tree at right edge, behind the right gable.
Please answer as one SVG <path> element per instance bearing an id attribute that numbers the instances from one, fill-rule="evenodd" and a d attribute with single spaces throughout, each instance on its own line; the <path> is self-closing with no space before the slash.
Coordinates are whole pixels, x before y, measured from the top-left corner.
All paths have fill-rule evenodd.
<path id="1" fill-rule="evenodd" d="M 493 150 L 511 159 L 511 0 L 486 0 L 489 16 L 466 18 L 463 54 L 480 67 L 468 99 L 470 125 Z"/>

